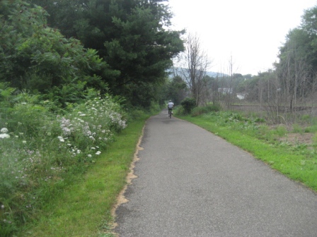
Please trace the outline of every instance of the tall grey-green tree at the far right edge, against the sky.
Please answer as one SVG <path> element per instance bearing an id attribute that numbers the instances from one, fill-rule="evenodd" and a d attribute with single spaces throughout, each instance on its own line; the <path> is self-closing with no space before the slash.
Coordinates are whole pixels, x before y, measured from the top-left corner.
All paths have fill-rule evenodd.
<path id="1" fill-rule="evenodd" d="M 276 63 L 280 99 L 291 113 L 296 105 L 316 101 L 317 6 L 304 12 L 301 26 L 290 30 Z"/>

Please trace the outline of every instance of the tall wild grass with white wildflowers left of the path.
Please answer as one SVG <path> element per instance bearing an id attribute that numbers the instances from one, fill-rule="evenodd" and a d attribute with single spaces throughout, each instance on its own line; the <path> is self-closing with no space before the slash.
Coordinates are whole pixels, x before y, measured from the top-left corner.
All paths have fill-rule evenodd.
<path id="1" fill-rule="evenodd" d="M 126 127 L 125 114 L 109 96 L 69 104 L 60 114 L 35 97 L 23 98 L 1 104 L 0 236 L 36 219 Z"/>

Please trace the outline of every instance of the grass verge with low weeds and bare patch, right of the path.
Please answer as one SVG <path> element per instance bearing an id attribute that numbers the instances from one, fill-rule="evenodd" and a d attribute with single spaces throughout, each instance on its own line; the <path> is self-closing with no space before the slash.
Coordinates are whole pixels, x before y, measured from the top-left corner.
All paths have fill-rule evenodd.
<path id="1" fill-rule="evenodd" d="M 273 169 L 317 191 L 316 117 L 305 115 L 298 123 L 289 126 L 273 125 L 259 114 L 218 109 L 204 112 L 207 108 L 197 107 L 187 115 L 179 109 L 175 116 L 209 130 L 250 152 Z"/>

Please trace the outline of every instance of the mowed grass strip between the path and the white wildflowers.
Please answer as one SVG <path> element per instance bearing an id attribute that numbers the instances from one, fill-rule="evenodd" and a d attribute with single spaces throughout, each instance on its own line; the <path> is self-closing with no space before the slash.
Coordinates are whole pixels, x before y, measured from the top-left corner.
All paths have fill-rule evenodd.
<path id="1" fill-rule="evenodd" d="M 133 121 L 101 153 L 79 182 L 47 204 L 38 222 L 20 236 L 112 236 L 111 210 L 127 184 L 137 142 L 147 117 Z"/>

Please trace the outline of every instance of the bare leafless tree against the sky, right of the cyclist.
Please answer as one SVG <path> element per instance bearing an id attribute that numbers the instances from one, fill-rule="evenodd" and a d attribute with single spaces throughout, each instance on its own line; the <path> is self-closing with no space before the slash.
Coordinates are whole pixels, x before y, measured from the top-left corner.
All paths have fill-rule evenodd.
<path id="1" fill-rule="evenodd" d="M 209 61 L 207 53 L 202 49 L 197 35 L 188 35 L 184 63 L 182 76 L 187 81 L 197 105 L 202 104 L 202 93 L 207 85 L 207 81 L 204 79 L 211 61 Z"/>

